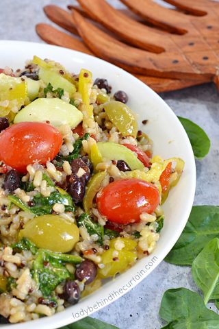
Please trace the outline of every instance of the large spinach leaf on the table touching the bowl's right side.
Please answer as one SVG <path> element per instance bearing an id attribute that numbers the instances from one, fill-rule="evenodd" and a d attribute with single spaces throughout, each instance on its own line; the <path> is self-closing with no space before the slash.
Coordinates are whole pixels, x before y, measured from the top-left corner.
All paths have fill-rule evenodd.
<path id="1" fill-rule="evenodd" d="M 218 223 L 219 206 L 193 206 L 183 233 L 165 260 L 175 265 L 192 265 L 203 247 L 219 238 Z"/>

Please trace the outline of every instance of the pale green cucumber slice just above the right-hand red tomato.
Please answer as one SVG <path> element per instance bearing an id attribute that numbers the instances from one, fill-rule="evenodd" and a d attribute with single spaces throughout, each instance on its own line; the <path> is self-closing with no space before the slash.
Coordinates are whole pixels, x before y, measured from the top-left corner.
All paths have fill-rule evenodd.
<path id="1" fill-rule="evenodd" d="M 105 159 L 109 160 L 124 160 L 127 162 L 131 170 L 135 169 L 144 169 L 144 164 L 140 160 L 138 160 L 137 156 L 131 151 L 127 149 L 127 147 L 111 143 L 111 142 L 99 142 L 97 143 L 99 151 L 101 155 Z"/>

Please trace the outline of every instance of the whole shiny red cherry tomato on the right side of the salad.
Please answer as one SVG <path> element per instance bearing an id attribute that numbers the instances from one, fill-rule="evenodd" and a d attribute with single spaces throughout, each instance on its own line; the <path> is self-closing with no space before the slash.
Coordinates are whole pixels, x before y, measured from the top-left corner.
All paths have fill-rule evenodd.
<path id="1" fill-rule="evenodd" d="M 151 214 L 159 204 L 159 191 L 153 184 L 136 178 L 116 180 L 105 186 L 96 204 L 101 215 L 119 224 L 136 223 L 140 214 Z"/>

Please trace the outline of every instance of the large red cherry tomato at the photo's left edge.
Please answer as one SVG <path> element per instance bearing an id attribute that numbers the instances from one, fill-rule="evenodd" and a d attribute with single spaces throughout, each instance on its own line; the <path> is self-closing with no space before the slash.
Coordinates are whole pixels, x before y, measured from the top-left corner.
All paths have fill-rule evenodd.
<path id="1" fill-rule="evenodd" d="M 62 135 L 47 123 L 21 122 L 0 134 L 0 160 L 21 173 L 28 164 L 55 158 L 62 146 Z"/>

